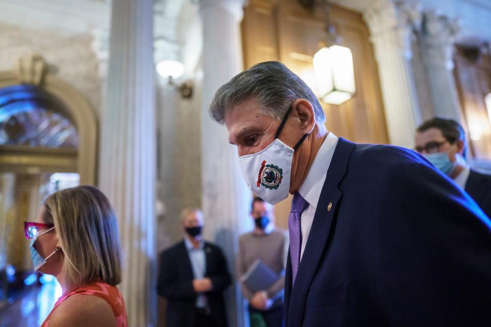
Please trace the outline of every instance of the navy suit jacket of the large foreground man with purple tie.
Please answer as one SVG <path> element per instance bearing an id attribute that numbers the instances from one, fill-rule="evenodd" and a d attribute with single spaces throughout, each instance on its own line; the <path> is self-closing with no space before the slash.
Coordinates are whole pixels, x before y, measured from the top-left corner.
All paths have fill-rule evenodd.
<path id="1" fill-rule="evenodd" d="M 489 326 L 491 222 L 417 153 L 340 138 L 293 288 L 288 256 L 285 318 Z"/>

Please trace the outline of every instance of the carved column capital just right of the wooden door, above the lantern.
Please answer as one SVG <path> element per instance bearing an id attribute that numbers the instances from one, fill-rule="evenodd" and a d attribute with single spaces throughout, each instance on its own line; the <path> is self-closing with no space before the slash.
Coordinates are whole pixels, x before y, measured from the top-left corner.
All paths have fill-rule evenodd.
<path id="1" fill-rule="evenodd" d="M 413 31 L 421 25 L 419 6 L 410 6 L 404 0 L 377 0 L 363 12 L 371 34 L 371 41 L 384 46 L 379 49 L 398 50 L 406 59 L 412 57 Z M 377 57 L 384 50 L 377 51 Z"/>

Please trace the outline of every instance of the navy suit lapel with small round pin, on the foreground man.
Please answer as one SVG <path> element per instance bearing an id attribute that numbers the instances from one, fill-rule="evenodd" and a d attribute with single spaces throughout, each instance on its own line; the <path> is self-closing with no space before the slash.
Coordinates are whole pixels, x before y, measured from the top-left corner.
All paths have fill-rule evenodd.
<path id="1" fill-rule="evenodd" d="M 287 314 L 288 327 L 302 325 L 307 292 L 329 237 L 332 220 L 337 211 L 338 203 L 341 200 L 342 192 L 339 190 L 338 185 L 346 174 L 349 156 L 354 146 L 354 143 L 340 138 L 336 150 L 334 150 L 327 170 L 326 180 L 319 197 L 305 251 L 300 261 L 295 284 L 291 293 L 285 290 L 285 306 L 288 306 L 285 313 Z M 291 269 L 290 264 L 289 270 Z M 292 276 L 289 270 L 286 273 L 285 283 L 290 283 L 291 285 Z"/>

